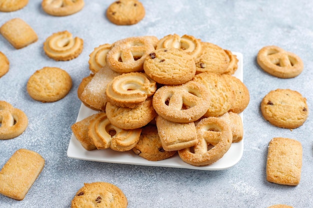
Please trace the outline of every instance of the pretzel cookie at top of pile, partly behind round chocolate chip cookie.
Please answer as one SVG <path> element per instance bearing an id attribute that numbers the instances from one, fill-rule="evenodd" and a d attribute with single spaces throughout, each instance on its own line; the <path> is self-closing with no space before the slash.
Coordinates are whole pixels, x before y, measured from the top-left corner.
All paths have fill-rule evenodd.
<path id="1" fill-rule="evenodd" d="M 106 64 L 118 73 L 143 71 L 145 57 L 154 50 L 151 36 L 128 37 L 113 43 Z"/>

